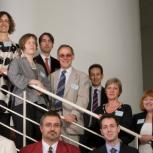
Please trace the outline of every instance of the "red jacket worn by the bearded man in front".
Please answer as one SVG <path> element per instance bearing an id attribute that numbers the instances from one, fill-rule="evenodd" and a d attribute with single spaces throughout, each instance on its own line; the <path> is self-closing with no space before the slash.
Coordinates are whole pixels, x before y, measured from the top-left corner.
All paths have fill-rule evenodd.
<path id="1" fill-rule="evenodd" d="M 21 148 L 20 153 L 43 153 L 42 142 L 36 142 Z M 59 141 L 56 153 L 80 153 L 79 148 L 74 145 Z"/>

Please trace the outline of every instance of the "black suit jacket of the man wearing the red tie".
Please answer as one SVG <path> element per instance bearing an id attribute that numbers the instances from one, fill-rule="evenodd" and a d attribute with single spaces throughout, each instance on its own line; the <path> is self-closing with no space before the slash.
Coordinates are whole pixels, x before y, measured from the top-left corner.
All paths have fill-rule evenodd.
<path id="1" fill-rule="evenodd" d="M 45 63 L 44 63 L 41 55 L 36 56 L 34 58 L 34 61 L 44 67 L 46 75 L 48 76 L 49 74 L 47 72 L 47 68 L 45 66 Z M 50 56 L 50 61 L 51 61 L 51 63 L 50 63 L 50 65 L 51 65 L 51 73 L 60 68 L 60 63 L 56 58 Z"/>

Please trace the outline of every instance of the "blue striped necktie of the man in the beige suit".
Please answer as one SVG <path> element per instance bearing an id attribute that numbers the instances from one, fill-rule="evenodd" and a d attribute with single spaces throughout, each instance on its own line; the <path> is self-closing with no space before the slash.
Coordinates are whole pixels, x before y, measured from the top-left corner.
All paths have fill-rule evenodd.
<path id="1" fill-rule="evenodd" d="M 57 91 L 56 91 L 56 95 L 63 97 L 64 95 L 64 90 L 65 90 L 65 81 L 66 81 L 66 76 L 65 76 L 66 71 L 62 71 L 59 82 L 58 82 L 58 86 L 57 86 Z M 62 109 L 62 102 L 59 100 L 55 100 L 55 109 L 59 110 Z"/>

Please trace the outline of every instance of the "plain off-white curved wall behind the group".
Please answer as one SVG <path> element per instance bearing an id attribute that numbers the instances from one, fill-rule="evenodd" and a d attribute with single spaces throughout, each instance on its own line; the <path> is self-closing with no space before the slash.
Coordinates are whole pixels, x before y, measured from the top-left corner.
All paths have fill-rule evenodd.
<path id="1" fill-rule="evenodd" d="M 87 72 L 93 63 L 104 68 L 104 81 L 118 77 L 121 101 L 139 111 L 142 62 L 138 0 L 1 0 L 1 9 L 16 21 L 17 41 L 27 32 L 55 37 L 53 55 L 62 43 L 75 50 L 74 66 Z"/>

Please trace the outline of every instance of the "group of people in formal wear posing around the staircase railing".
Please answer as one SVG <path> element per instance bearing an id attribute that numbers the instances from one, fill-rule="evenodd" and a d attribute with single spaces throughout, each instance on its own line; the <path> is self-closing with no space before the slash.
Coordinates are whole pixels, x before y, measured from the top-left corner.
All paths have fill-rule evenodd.
<path id="1" fill-rule="evenodd" d="M 105 88 L 102 87 L 103 68 L 100 64 L 91 65 L 88 76 L 72 66 L 75 54 L 70 45 L 59 46 L 58 59 L 53 58 L 51 50 L 54 37 L 45 32 L 39 37 L 40 54 L 36 55 L 37 37 L 31 33 L 24 34 L 16 44 L 9 38 L 14 30 L 15 23 L 11 15 L 0 11 L 0 86 L 20 97 L 23 97 L 23 91 L 26 91 L 27 99 L 33 104 L 52 110 L 45 113 L 42 109 L 27 103 L 27 117 L 38 123 L 40 121 L 40 128 L 27 121 L 26 133 L 40 141 L 21 149 L 21 153 L 89 152 L 82 147 L 79 151 L 74 143 L 70 145 L 72 142 L 61 138 L 61 133 L 93 149 L 103 145 L 93 153 L 136 153 L 136 149 L 127 146 L 133 137 L 120 131 L 119 125 L 142 135 L 139 141 L 140 153 L 153 152 L 153 90 L 146 91 L 142 97 L 143 113 L 132 116 L 130 105 L 119 100 L 122 84 L 118 78 L 107 80 Z M 98 114 L 101 119 L 97 120 L 68 104 L 50 98 L 30 85 L 51 91 L 82 108 L 87 108 Z M 3 90 L 0 91 L 0 104 L 23 115 L 23 101 L 17 97 L 10 97 Z M 63 121 L 59 115 L 64 117 Z M 12 114 L 11 120 L 14 128 L 22 132 L 23 119 Z M 10 113 L 2 107 L 0 107 L 0 122 L 10 124 Z M 72 122 L 102 134 L 104 139 L 84 131 Z M 6 128 L 0 126 L 1 135 L 9 137 L 8 133 Z M 16 134 L 15 142 L 17 148 L 22 148 L 21 135 Z M 27 140 L 27 144 L 30 143 L 32 142 Z M 110 151 L 112 148 L 114 152 Z"/>

